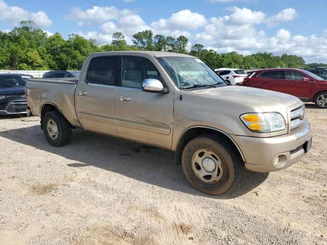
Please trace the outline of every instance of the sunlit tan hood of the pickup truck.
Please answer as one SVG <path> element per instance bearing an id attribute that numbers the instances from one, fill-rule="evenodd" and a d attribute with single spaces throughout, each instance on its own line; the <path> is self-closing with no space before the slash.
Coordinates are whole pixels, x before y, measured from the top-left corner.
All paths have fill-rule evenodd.
<path id="1" fill-rule="evenodd" d="M 196 93 L 207 99 L 217 99 L 220 102 L 225 101 L 225 104 L 240 104 L 251 108 L 261 108 L 263 112 L 276 111 L 277 108 L 288 108 L 302 102 L 295 96 L 270 91 L 266 89 L 243 87 L 243 86 L 225 86 L 209 89 L 192 90 L 191 93 Z M 253 111 L 254 112 L 254 111 Z"/>

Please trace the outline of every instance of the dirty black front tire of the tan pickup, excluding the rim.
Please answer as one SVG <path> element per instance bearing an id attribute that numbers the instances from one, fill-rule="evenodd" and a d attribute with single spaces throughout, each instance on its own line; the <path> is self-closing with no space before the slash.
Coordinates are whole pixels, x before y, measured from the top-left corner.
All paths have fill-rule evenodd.
<path id="1" fill-rule="evenodd" d="M 217 182 L 202 181 L 192 168 L 193 155 L 200 149 L 214 152 L 222 163 L 222 176 Z M 229 190 L 240 170 L 245 169 L 240 154 L 228 140 L 215 135 L 200 135 L 189 141 L 182 153 L 182 168 L 186 179 L 198 190 L 218 195 Z"/>

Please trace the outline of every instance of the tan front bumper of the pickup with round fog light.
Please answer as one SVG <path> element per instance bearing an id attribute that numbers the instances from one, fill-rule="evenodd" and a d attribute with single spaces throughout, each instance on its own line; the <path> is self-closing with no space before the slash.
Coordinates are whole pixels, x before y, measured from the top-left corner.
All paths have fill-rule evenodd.
<path id="1" fill-rule="evenodd" d="M 230 136 L 245 158 L 246 169 L 257 172 L 277 171 L 298 162 L 305 156 L 305 144 L 312 137 L 308 120 L 286 135 L 269 138 Z M 273 161 L 277 156 L 281 164 L 275 166 Z"/>

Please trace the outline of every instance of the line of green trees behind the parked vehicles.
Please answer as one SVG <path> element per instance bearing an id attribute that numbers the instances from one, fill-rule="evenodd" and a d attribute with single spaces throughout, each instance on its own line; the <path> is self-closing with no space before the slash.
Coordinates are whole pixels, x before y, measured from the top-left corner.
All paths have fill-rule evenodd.
<path id="1" fill-rule="evenodd" d="M 310 67 L 327 64 L 305 64 L 302 57 L 283 54 L 256 53 L 248 56 L 236 52 L 219 54 L 206 50 L 195 43 L 188 51 L 188 38 L 179 36 L 154 35 L 151 30 L 132 35 L 132 45 L 128 45 L 121 32 L 112 34 L 112 42 L 99 46 L 94 39 L 71 34 L 65 40 L 59 33 L 48 36 L 35 27 L 33 21 L 21 21 L 9 33 L 0 31 L 0 69 L 18 70 L 79 70 L 85 58 L 94 52 L 106 51 L 166 51 L 196 56 L 212 68 L 230 67 L 241 69 L 275 67 Z"/>

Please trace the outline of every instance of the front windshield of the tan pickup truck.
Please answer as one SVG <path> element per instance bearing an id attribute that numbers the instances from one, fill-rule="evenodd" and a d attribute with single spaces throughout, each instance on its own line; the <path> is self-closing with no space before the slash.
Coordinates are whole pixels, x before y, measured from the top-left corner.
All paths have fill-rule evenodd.
<path id="1" fill-rule="evenodd" d="M 180 89 L 210 88 L 227 84 L 203 61 L 193 57 L 158 57 L 168 75 Z"/>

